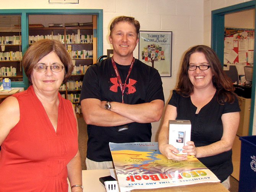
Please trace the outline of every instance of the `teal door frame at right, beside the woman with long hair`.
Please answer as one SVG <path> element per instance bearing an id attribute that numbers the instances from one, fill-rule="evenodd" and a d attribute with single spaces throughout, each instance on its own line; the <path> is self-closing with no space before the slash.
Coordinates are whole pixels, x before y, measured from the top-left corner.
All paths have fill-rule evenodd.
<path id="1" fill-rule="evenodd" d="M 224 22 L 225 14 L 234 13 L 256 8 L 256 0 L 240 3 L 233 6 L 228 6 L 212 11 L 212 28 L 211 28 L 211 48 L 216 52 L 221 62 L 224 61 Z M 255 14 L 256 15 L 256 14 Z M 254 26 L 256 26 L 256 18 L 254 18 Z M 255 33 L 255 29 L 254 29 Z M 254 59 L 253 59 L 253 82 L 251 91 L 251 111 L 250 111 L 250 126 L 249 135 L 253 132 L 253 117 L 255 105 L 255 88 L 256 88 L 256 43 L 254 43 Z"/>

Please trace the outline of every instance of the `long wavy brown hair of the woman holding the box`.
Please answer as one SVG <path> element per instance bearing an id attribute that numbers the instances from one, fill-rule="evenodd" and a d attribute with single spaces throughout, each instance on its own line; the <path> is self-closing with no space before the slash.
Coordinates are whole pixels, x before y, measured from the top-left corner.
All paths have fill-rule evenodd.
<path id="1" fill-rule="evenodd" d="M 222 69 L 220 60 L 216 53 L 205 45 L 194 46 L 186 52 L 181 64 L 178 86 L 176 88 L 177 92 L 185 97 L 190 96 L 194 92 L 194 86 L 188 77 L 188 64 L 191 54 L 196 52 L 203 53 L 209 65 L 211 66 L 209 69 L 212 70 L 212 83 L 217 90 L 218 102 L 220 104 L 224 104 L 224 102 L 234 102 L 236 94 L 234 93 L 235 88 L 233 87 L 232 80 L 225 74 L 224 70 Z"/>

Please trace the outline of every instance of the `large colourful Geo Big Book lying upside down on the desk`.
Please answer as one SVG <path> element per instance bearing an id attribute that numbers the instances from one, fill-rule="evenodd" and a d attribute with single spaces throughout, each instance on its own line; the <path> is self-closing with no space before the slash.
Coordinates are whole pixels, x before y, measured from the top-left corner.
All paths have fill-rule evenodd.
<path id="1" fill-rule="evenodd" d="M 194 156 L 188 156 L 186 161 L 167 159 L 157 142 L 110 142 L 109 146 L 121 192 L 219 182 Z"/>

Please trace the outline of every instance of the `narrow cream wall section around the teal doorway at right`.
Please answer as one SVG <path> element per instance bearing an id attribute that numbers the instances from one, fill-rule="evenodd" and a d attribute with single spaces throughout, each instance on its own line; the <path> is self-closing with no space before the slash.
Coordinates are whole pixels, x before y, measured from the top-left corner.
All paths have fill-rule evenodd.
<path id="1" fill-rule="evenodd" d="M 204 0 L 204 45 L 211 45 L 211 11 L 248 1 L 250 0 Z M 253 135 L 256 135 L 255 109 L 256 105 L 254 106 Z"/>

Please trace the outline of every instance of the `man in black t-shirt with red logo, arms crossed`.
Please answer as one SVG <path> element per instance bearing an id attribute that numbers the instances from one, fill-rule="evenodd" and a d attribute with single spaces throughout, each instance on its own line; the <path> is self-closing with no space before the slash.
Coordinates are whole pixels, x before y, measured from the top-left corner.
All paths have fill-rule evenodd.
<path id="1" fill-rule="evenodd" d="M 139 28 L 133 17 L 115 18 L 109 35 L 113 57 L 84 75 L 80 102 L 88 125 L 88 170 L 113 168 L 109 142 L 150 142 L 151 122 L 162 116 L 160 75 L 133 57 Z"/>

